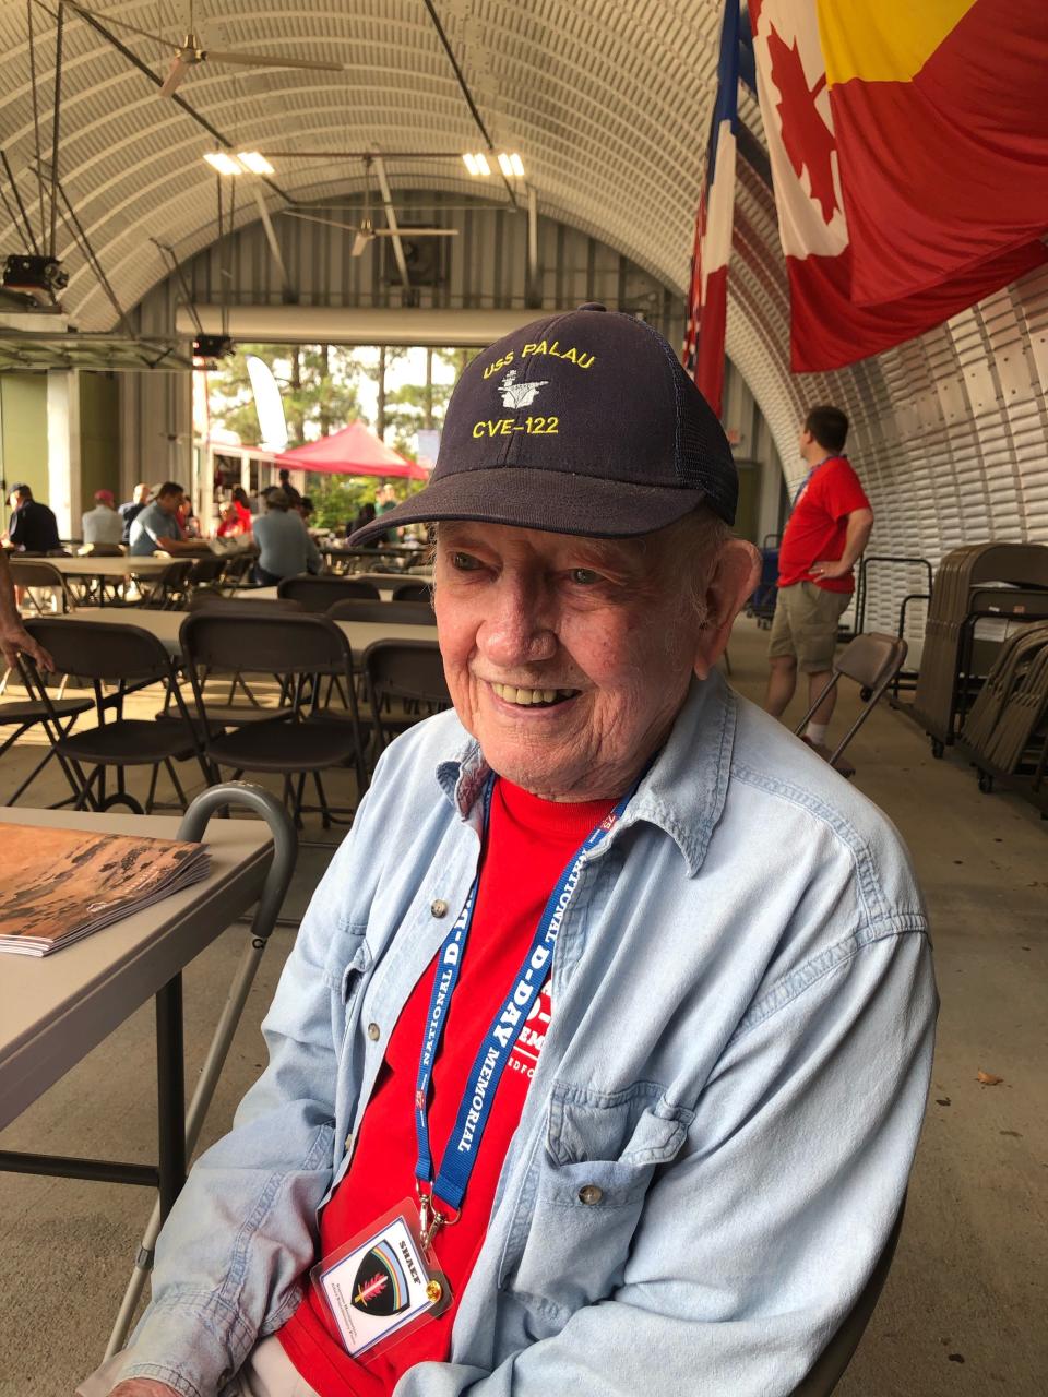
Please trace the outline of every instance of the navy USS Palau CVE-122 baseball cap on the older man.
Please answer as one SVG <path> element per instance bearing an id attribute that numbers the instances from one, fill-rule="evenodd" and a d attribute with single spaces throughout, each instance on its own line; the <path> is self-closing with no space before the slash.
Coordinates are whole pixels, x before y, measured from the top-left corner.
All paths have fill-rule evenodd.
<path id="1" fill-rule="evenodd" d="M 426 488 L 349 542 L 440 520 L 630 538 L 700 504 L 734 524 L 738 492 L 724 429 L 662 335 L 585 305 L 468 365 Z"/>

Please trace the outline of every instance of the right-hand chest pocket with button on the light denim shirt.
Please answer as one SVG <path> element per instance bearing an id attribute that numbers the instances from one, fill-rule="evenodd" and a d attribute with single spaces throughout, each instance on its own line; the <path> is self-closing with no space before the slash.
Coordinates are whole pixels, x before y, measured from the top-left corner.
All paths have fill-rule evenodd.
<path id="1" fill-rule="evenodd" d="M 499 1284 L 560 1319 L 611 1295 L 655 1169 L 676 1157 L 692 1119 L 657 1083 L 616 1092 L 555 1084 Z"/>

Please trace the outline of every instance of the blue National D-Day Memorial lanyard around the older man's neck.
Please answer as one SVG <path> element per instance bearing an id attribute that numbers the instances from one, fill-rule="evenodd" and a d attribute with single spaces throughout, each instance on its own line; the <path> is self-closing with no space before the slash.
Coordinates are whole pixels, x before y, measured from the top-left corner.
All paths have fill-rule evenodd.
<path id="1" fill-rule="evenodd" d="M 490 777 L 483 791 L 483 830 L 488 830 L 488 820 L 492 807 L 492 791 L 495 777 Z M 553 946 L 560 932 L 560 925 L 567 912 L 574 890 L 583 870 L 583 861 L 587 854 L 601 844 L 612 831 L 629 805 L 633 789 L 615 806 L 612 813 L 597 826 L 588 838 L 578 848 L 567 863 L 565 872 L 558 879 L 556 887 L 549 894 L 542 916 L 538 919 L 535 935 L 531 937 L 524 964 L 514 978 L 510 993 L 502 1003 L 497 1014 L 485 1034 L 474 1065 L 467 1078 L 465 1095 L 458 1106 L 451 1139 L 444 1150 L 440 1171 L 432 1185 L 432 1194 L 440 1197 L 453 1208 L 460 1208 L 470 1176 L 476 1164 L 488 1118 L 490 1115 L 495 1092 L 510 1060 L 517 1042 L 520 1024 L 523 1024 L 531 1006 L 535 1003 L 549 972 L 549 961 Z M 463 954 L 470 936 L 474 919 L 474 905 L 476 902 L 476 888 L 479 873 L 474 879 L 470 895 L 463 911 L 458 914 L 454 926 L 444 937 L 437 961 L 437 972 L 433 981 L 433 993 L 429 999 L 429 1020 L 422 1039 L 422 1056 L 419 1059 L 418 1080 L 415 1083 L 415 1133 L 418 1136 L 418 1162 L 415 1164 L 415 1178 L 421 1185 L 433 1179 L 433 1155 L 429 1143 L 429 1088 L 433 1078 L 433 1063 L 444 1034 L 447 1013 L 451 1006 L 451 996 L 458 985 L 458 975 L 463 968 Z M 419 1187 L 419 1193 L 421 1193 Z"/>

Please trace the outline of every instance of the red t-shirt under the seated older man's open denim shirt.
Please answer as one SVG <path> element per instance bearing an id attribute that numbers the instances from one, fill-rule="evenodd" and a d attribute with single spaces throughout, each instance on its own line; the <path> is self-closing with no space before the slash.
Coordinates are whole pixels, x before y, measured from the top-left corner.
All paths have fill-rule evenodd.
<path id="1" fill-rule="evenodd" d="M 560 805 L 528 795 L 507 781 L 495 785 L 474 922 L 433 1065 L 429 1132 L 437 1168 L 476 1051 L 516 981 L 546 900 L 567 861 L 613 807 L 613 800 Z M 453 908 L 449 915 L 456 912 Z M 415 1080 L 437 958 L 415 985 L 390 1037 L 352 1162 L 320 1217 L 321 1257 L 415 1194 Z M 549 1014 L 546 981 L 499 1083 L 461 1217 L 436 1239 L 437 1260 L 456 1296 L 470 1280 L 488 1229 L 499 1175 L 535 1073 Z M 303 1301 L 278 1338 L 320 1397 L 380 1397 L 391 1393 L 415 1363 L 447 1359 L 454 1303 L 439 1319 L 358 1362 L 342 1348 L 334 1320 L 309 1277 L 303 1277 Z"/>

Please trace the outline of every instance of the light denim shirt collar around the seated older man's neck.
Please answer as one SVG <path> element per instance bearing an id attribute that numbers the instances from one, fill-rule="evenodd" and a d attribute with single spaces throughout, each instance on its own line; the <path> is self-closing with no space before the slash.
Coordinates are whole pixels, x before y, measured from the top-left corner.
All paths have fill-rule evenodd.
<path id="1" fill-rule="evenodd" d="M 687 876 L 694 877 L 728 795 L 735 717 L 735 696 L 717 671 L 708 679 L 693 679 L 665 747 L 637 787 L 612 840 L 646 820 L 674 840 Z M 474 738 L 436 768 L 446 799 L 478 834 L 479 795 L 489 773 Z"/>

